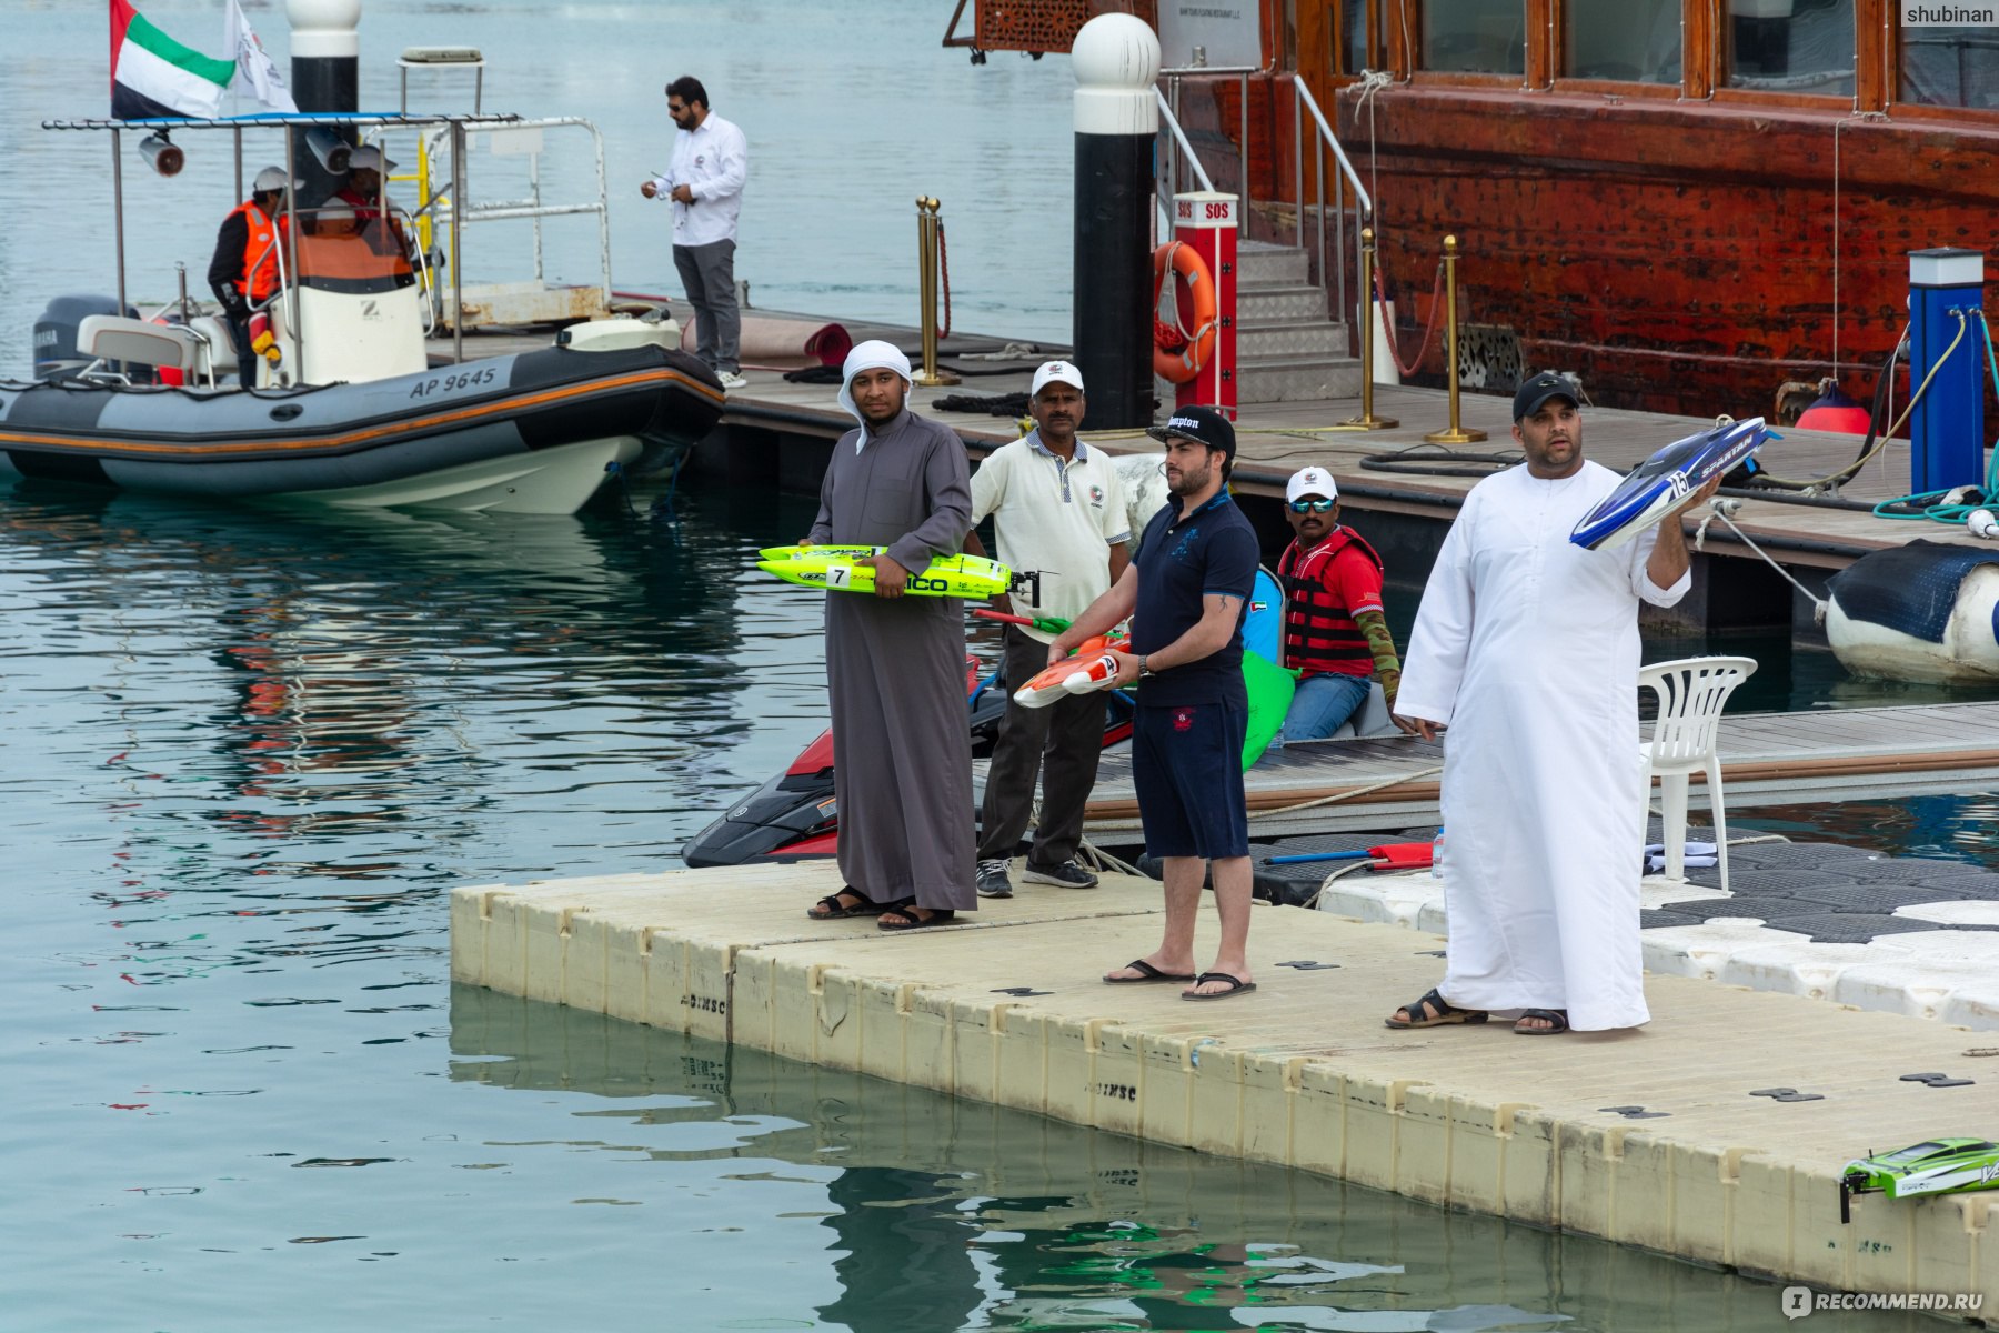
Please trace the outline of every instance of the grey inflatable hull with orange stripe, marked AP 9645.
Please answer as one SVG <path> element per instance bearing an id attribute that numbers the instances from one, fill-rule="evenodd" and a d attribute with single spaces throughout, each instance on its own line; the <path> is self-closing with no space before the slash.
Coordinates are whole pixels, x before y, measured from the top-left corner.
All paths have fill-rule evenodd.
<path id="1" fill-rule="evenodd" d="M 574 514 L 706 436 L 722 386 L 658 344 L 548 348 L 368 384 L 0 384 L 0 476 L 216 500 Z"/>

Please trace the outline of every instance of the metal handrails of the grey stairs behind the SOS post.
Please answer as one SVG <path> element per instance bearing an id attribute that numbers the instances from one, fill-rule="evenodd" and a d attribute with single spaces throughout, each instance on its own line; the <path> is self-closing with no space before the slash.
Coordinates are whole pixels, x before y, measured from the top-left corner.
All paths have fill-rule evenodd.
<path id="1" fill-rule="evenodd" d="M 1157 188 L 1161 240 L 1171 226 L 1167 200 L 1173 192 L 1183 190 L 1189 184 L 1197 184 L 1201 190 L 1215 190 L 1201 164 L 1199 152 L 1187 138 L 1181 122 L 1181 84 L 1189 78 L 1233 78 L 1237 82 L 1237 106 L 1247 112 L 1249 80 L 1267 74 L 1267 70 L 1215 66 L 1169 68 L 1159 72 L 1165 90 L 1159 92 L 1155 88 L 1155 94 L 1159 98 L 1161 126 L 1167 130 L 1161 154 L 1163 170 L 1159 174 Z M 1353 168 L 1345 148 L 1339 144 L 1339 136 L 1333 134 L 1331 124 L 1325 120 L 1325 112 L 1319 110 L 1311 90 L 1305 88 L 1305 80 L 1293 76 L 1289 84 L 1293 94 L 1289 176 L 1295 212 L 1289 244 L 1283 240 L 1277 240 L 1275 244 L 1285 246 L 1287 250 L 1301 250 L 1309 256 L 1311 282 L 1325 292 L 1327 314 L 1333 320 L 1347 322 L 1355 318 L 1351 302 L 1359 300 L 1361 228 L 1373 222 L 1373 198 L 1367 194 L 1359 172 Z M 1251 208 L 1257 200 L 1253 200 L 1247 190 L 1249 148 L 1249 116 L 1243 114 L 1235 152 L 1229 154 L 1231 160 L 1217 158 L 1215 170 L 1219 174 L 1225 168 L 1233 168 L 1231 174 L 1237 182 L 1237 194 L 1243 196 L 1245 204 L 1245 222 L 1257 218 L 1261 212 Z M 1327 200 L 1327 176 L 1331 176 L 1331 200 Z M 1243 240 L 1269 238 L 1249 236 L 1245 232 Z"/>

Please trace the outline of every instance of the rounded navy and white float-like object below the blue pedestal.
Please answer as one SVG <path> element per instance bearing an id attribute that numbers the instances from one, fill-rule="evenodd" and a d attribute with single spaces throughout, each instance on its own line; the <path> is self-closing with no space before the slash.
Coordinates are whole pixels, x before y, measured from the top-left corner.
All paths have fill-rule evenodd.
<path id="1" fill-rule="evenodd" d="M 1999 679 L 1999 552 L 1909 542 L 1861 556 L 1827 588 L 1825 638 L 1855 675 Z"/>

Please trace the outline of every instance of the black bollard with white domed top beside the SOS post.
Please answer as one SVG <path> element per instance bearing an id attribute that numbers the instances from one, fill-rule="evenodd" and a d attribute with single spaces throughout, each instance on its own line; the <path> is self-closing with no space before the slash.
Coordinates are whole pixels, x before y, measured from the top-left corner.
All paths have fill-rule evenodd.
<path id="1" fill-rule="evenodd" d="M 1159 38 L 1131 14 L 1099 14 L 1075 66 L 1075 366 L 1089 426 L 1151 424 L 1151 156 Z"/>

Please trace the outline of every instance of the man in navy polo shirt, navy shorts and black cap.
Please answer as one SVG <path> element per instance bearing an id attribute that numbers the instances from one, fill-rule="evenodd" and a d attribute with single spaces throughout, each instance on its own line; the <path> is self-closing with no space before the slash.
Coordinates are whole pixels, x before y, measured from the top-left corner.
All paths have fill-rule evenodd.
<path id="1" fill-rule="evenodd" d="M 1145 526 L 1123 578 L 1049 644 L 1047 662 L 1131 618 L 1131 652 L 1117 654 L 1117 683 L 1137 681 L 1131 781 L 1145 849 L 1165 863 L 1165 935 L 1153 953 L 1103 979 L 1191 981 L 1181 999 L 1223 999 L 1255 989 L 1241 624 L 1255 588 L 1257 540 L 1223 490 L 1235 464 L 1227 418 L 1213 408 L 1177 408 L 1147 434 L 1165 442 L 1171 498 Z M 1215 881 L 1221 947 L 1213 967 L 1193 975 L 1203 861 Z"/>

